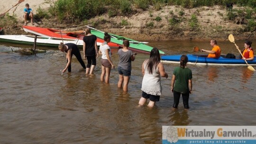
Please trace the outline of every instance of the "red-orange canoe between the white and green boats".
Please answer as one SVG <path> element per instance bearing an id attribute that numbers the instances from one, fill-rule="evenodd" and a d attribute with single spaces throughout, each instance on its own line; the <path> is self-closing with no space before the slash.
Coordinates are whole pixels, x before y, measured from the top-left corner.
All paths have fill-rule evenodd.
<path id="1" fill-rule="evenodd" d="M 65 31 L 61 31 L 52 28 L 43 28 L 43 27 L 30 27 L 30 26 L 23 26 L 23 29 L 31 34 L 37 36 L 50 36 L 50 37 L 57 37 L 57 38 L 70 38 L 70 39 L 82 39 L 83 35 L 77 33 L 66 33 Z M 104 40 L 97 37 L 97 43 L 103 43 Z M 115 43 L 108 43 L 110 47 L 119 47 L 119 45 Z"/>

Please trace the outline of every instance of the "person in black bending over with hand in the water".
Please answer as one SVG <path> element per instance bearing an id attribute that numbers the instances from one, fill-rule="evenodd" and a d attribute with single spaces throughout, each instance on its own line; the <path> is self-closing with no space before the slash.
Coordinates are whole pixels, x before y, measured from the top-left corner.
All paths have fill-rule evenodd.
<path id="1" fill-rule="evenodd" d="M 86 66 L 85 66 L 84 62 L 82 61 L 82 57 L 81 57 L 81 54 L 80 54 L 80 51 L 79 51 L 77 45 L 75 45 L 73 43 L 67 43 L 67 44 L 61 43 L 58 48 L 60 51 L 67 53 L 67 65 L 64 68 L 64 70 L 62 71 L 63 73 L 66 72 L 67 69 L 68 69 L 68 72 L 71 72 L 71 59 L 72 59 L 73 54 L 75 55 L 75 57 L 79 61 L 79 63 L 82 65 L 82 67 L 84 69 L 86 69 Z"/>

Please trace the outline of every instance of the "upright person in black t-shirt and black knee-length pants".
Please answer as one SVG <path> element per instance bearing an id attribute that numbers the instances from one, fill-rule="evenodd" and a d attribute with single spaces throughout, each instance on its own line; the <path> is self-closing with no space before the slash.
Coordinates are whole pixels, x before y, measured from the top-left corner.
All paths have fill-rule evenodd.
<path id="1" fill-rule="evenodd" d="M 91 35 L 91 30 L 86 27 L 84 29 L 85 36 L 83 37 L 83 58 L 87 59 L 86 74 L 93 74 L 96 66 L 96 58 L 98 57 L 97 37 Z M 91 70 L 90 70 L 91 69 Z"/>

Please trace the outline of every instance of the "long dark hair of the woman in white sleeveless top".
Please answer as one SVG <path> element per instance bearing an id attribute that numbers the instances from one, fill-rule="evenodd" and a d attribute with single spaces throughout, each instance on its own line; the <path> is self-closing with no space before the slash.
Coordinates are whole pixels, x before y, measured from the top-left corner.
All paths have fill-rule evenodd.
<path id="1" fill-rule="evenodd" d="M 147 70 L 150 74 L 153 73 L 153 70 L 156 69 L 157 64 L 160 62 L 160 54 L 157 48 L 153 48 L 150 52 L 150 57 L 148 59 L 148 63 L 146 65 Z"/>

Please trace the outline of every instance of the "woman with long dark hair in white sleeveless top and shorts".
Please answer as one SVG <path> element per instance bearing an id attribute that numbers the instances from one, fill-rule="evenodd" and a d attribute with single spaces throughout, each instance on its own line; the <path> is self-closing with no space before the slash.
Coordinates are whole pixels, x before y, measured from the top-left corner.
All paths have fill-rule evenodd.
<path id="1" fill-rule="evenodd" d="M 160 62 L 160 54 L 157 48 L 150 52 L 150 58 L 142 64 L 142 97 L 139 100 L 139 106 L 143 106 L 147 99 L 150 99 L 148 107 L 154 107 L 155 102 L 159 101 L 162 94 L 161 76 L 168 78 L 163 63 Z"/>

